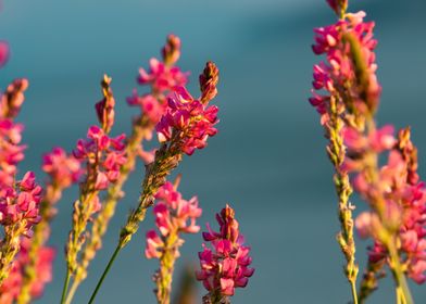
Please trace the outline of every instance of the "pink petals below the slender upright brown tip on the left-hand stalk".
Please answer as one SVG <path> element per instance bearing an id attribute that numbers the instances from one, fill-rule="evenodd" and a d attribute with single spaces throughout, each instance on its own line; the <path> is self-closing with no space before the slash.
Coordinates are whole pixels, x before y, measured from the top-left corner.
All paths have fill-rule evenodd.
<path id="1" fill-rule="evenodd" d="M 124 139 L 125 135 L 112 138 L 100 127 L 91 126 L 87 139 L 78 140 L 73 154 L 87 162 L 88 174 L 95 175 L 96 190 L 106 189 L 120 177 L 120 167 L 126 161 Z"/>

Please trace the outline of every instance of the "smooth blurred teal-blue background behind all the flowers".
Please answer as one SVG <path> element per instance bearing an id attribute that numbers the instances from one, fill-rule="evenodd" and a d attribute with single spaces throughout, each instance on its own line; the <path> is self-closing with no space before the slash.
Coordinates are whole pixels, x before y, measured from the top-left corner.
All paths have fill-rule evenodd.
<path id="1" fill-rule="evenodd" d="M 411 125 L 426 159 L 426 2 L 364 0 L 351 5 L 377 22 L 379 78 L 384 86 L 379 122 Z M 68 151 L 96 123 L 93 104 L 100 99 L 103 73 L 113 78 L 117 100 L 115 132 L 128 131 L 137 109 L 125 98 L 136 87 L 140 66 L 160 55 L 168 33 L 183 40 L 180 66 L 191 72 L 190 89 L 204 62 L 221 68 L 217 104 L 220 134 L 208 149 L 185 157 L 185 197 L 199 197 L 202 226 L 230 202 L 252 246 L 255 275 L 235 303 L 347 303 L 349 287 L 338 231 L 331 169 L 326 141 L 310 96 L 313 27 L 335 21 L 318 0 L 7 0 L 0 13 L 0 37 L 12 56 L 0 71 L 2 88 L 14 77 L 28 77 L 30 88 L 20 116 L 28 144 L 22 169 L 39 169 L 43 152 L 53 145 Z M 421 172 L 425 174 L 424 163 Z M 104 248 L 75 297 L 86 303 L 112 253 L 128 208 L 135 204 L 142 166 L 125 187 Z M 76 189 L 60 203 L 51 244 L 58 248 L 54 281 L 39 303 L 58 303 L 65 264 L 63 246 L 71 226 Z M 363 205 L 359 200 L 354 203 Z M 143 257 L 149 219 L 123 251 L 108 277 L 98 303 L 154 303 L 151 275 L 155 261 Z M 189 236 L 178 262 L 196 263 L 201 236 Z M 358 258 L 365 264 L 365 241 Z M 177 286 L 176 286 L 177 287 Z M 394 303 L 392 284 L 384 280 L 371 303 Z M 416 303 L 426 289 L 412 284 Z M 204 291 L 200 287 L 200 294 Z"/>

